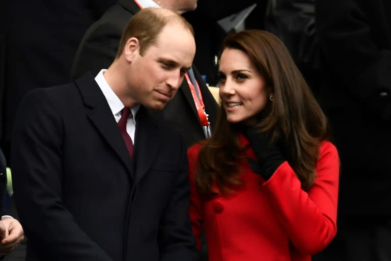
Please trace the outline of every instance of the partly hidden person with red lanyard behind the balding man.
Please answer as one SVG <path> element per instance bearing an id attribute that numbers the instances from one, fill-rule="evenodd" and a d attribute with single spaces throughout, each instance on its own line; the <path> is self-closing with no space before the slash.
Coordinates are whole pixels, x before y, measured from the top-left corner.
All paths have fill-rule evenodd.
<path id="1" fill-rule="evenodd" d="M 107 68 L 117 53 L 125 25 L 135 13 L 147 7 L 162 7 L 182 14 L 197 8 L 197 0 L 120 0 L 87 30 L 74 58 L 71 79 L 87 71 L 96 75 L 100 69 Z M 162 113 L 153 116 L 180 132 L 189 147 L 207 137 L 208 128 L 213 128 L 216 122 L 217 108 L 200 73 L 192 67 L 177 95 Z"/>

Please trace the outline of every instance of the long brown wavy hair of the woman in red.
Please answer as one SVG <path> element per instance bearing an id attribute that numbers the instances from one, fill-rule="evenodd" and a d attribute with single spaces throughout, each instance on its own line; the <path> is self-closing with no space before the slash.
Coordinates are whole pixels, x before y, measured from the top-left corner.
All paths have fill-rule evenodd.
<path id="1" fill-rule="evenodd" d="M 226 48 L 244 51 L 264 77 L 273 101 L 268 101 L 262 111 L 267 116 L 258 127 L 278 142 L 302 188 L 309 189 L 316 177 L 320 143 L 329 138 L 329 126 L 287 48 L 275 35 L 261 30 L 228 35 L 221 44 L 220 56 Z M 221 106 L 212 137 L 198 155 L 194 178 L 201 195 L 226 195 L 242 184 L 238 161 L 244 158 L 244 149 L 237 135 L 239 126 L 228 122 Z"/>

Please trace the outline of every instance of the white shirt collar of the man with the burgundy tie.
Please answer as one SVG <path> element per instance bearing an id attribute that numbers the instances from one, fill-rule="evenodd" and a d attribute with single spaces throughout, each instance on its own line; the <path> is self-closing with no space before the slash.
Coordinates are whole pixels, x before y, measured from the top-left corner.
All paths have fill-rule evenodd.
<path id="1" fill-rule="evenodd" d="M 102 91 L 104 97 L 107 100 L 108 106 L 110 107 L 111 113 L 113 115 L 119 114 L 122 109 L 124 109 L 124 105 L 120 98 L 118 98 L 117 94 L 114 93 L 114 91 L 111 89 L 111 87 L 106 82 L 106 79 L 104 79 L 103 72 L 107 71 L 106 69 L 100 70 L 100 72 L 96 75 L 95 81 L 98 84 L 100 90 Z M 140 108 L 140 105 L 136 105 L 132 108 L 130 108 L 130 111 L 133 115 L 133 120 L 135 122 L 136 113 L 138 109 Z"/>

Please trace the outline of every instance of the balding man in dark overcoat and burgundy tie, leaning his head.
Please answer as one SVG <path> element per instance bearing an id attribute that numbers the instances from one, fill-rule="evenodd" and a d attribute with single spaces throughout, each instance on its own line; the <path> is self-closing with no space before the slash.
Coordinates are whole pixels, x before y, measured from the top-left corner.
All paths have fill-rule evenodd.
<path id="1" fill-rule="evenodd" d="M 26 95 L 11 159 L 28 260 L 197 259 L 185 144 L 147 112 L 177 92 L 192 32 L 170 10 L 144 9 L 108 70 Z"/>

